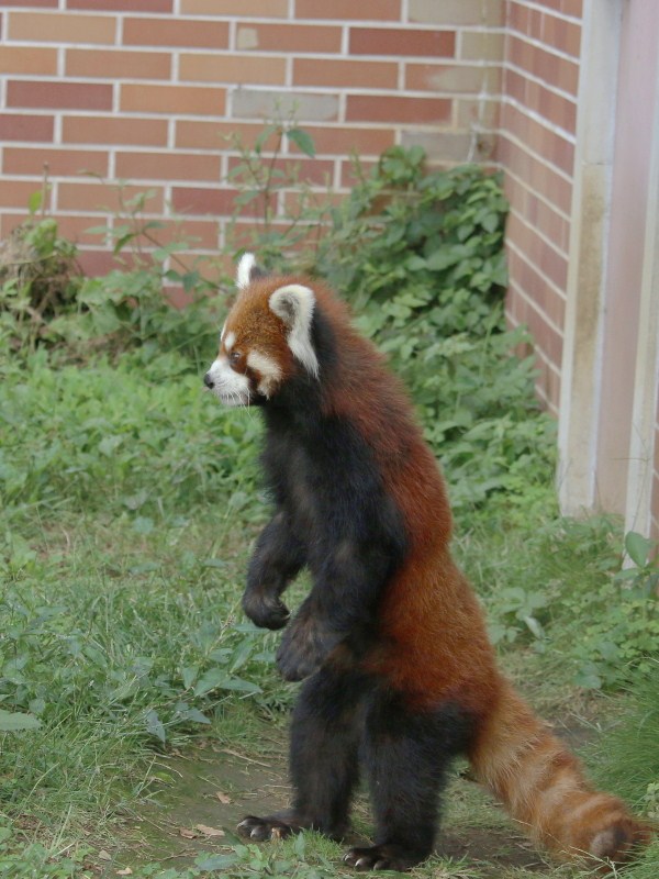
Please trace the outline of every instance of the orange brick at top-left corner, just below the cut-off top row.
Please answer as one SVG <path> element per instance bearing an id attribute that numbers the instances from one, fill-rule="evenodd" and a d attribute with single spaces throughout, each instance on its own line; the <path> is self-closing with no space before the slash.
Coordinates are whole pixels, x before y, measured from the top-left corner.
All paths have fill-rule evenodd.
<path id="1" fill-rule="evenodd" d="M 70 12 L 11 12 L 9 37 L 30 43 L 114 43 L 116 21 L 110 15 Z"/>

